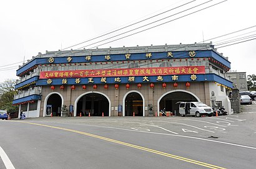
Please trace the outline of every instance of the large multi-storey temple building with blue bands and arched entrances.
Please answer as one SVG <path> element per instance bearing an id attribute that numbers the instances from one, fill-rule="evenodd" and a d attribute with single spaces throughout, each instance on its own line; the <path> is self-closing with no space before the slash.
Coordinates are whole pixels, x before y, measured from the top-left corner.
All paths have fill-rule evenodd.
<path id="1" fill-rule="evenodd" d="M 212 43 L 96 48 L 39 53 L 17 69 L 14 105 L 27 117 L 159 116 L 180 101 L 202 101 L 232 114 L 230 62 Z"/>

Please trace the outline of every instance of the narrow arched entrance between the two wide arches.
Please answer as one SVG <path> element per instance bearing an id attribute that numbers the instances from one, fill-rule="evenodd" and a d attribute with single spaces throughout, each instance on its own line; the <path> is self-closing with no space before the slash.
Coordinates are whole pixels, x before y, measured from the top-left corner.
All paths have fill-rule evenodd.
<path id="1" fill-rule="evenodd" d="M 145 116 L 144 98 L 138 91 L 130 91 L 124 96 L 123 116 Z"/>

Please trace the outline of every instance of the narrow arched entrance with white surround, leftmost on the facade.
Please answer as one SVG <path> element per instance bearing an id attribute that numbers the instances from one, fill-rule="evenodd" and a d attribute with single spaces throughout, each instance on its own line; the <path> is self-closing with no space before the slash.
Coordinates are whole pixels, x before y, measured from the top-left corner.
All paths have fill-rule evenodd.
<path id="1" fill-rule="evenodd" d="M 50 93 L 44 104 L 45 116 L 61 116 L 62 97 L 59 93 Z"/>

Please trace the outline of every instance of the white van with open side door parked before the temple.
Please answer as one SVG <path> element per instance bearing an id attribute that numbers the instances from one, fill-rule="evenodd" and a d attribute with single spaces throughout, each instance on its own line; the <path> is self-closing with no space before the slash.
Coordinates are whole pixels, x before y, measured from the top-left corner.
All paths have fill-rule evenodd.
<path id="1" fill-rule="evenodd" d="M 212 116 L 214 110 L 202 102 L 181 102 L 179 106 L 180 116 L 196 116 L 202 115 Z"/>

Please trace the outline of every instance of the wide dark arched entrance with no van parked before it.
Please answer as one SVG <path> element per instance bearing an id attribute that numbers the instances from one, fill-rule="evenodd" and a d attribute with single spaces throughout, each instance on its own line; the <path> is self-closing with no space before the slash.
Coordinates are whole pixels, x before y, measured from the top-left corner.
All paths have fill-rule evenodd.
<path id="1" fill-rule="evenodd" d="M 110 116 L 110 103 L 109 99 L 104 96 L 102 93 L 89 92 L 82 94 L 77 98 L 75 103 L 75 114 L 74 116 Z"/>

